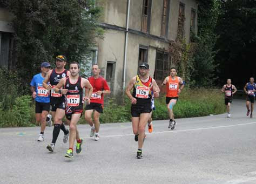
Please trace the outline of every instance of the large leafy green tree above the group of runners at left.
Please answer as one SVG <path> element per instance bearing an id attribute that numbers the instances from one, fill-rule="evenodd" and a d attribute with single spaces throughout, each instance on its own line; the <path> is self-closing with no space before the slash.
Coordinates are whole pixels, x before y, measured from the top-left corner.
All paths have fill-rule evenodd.
<path id="1" fill-rule="evenodd" d="M 92 0 L 0 0 L 14 16 L 16 68 L 29 81 L 39 64 L 57 54 L 81 61 L 102 36 L 100 8 Z"/>

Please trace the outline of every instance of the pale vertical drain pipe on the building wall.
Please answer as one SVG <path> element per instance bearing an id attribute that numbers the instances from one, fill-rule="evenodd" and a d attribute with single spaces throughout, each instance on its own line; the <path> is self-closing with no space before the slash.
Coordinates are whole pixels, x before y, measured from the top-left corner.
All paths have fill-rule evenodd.
<path id="1" fill-rule="evenodd" d="M 124 43 L 123 90 L 125 90 L 126 59 L 127 59 L 126 55 L 127 55 L 127 42 L 128 42 L 129 15 L 130 15 L 130 0 L 127 0 L 127 15 L 126 15 L 125 43 Z"/>

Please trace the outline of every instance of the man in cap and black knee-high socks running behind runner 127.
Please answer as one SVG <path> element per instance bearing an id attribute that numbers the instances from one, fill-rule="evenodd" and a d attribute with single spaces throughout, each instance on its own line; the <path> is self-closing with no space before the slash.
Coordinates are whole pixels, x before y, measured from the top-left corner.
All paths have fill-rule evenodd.
<path id="1" fill-rule="evenodd" d="M 50 70 L 44 78 L 43 87 L 51 90 L 50 103 L 51 111 L 54 119 L 54 128 L 52 132 L 52 142 L 47 146 L 50 152 L 53 152 L 55 143 L 59 135 L 60 129 L 64 132 L 63 142 L 68 142 L 69 130 L 67 130 L 62 122 L 62 118 L 65 115 L 65 100 L 62 94 L 54 91 L 55 86 L 59 83 L 60 79 L 70 76 L 70 72 L 64 69 L 66 65 L 66 57 L 59 55 L 56 57 L 56 69 Z M 50 82 L 50 84 L 49 84 Z"/>

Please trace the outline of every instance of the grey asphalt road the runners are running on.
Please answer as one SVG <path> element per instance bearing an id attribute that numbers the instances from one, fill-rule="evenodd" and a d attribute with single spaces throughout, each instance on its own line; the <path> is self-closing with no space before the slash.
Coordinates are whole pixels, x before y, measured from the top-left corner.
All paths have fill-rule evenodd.
<path id="1" fill-rule="evenodd" d="M 246 117 L 245 100 L 234 100 L 226 114 L 153 121 L 143 159 L 136 159 L 131 122 L 103 124 L 100 141 L 79 125 L 83 151 L 64 157 L 69 145 L 60 132 L 49 153 L 53 127 L 37 142 L 39 127 L 0 129 L 0 183 L 256 183 L 256 114 Z"/>

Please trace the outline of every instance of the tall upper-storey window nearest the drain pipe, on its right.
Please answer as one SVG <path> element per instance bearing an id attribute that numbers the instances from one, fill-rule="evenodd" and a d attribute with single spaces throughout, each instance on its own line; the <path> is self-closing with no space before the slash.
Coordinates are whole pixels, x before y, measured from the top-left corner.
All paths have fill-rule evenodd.
<path id="1" fill-rule="evenodd" d="M 152 0 L 143 0 L 142 32 L 146 32 L 146 33 L 149 33 L 149 30 L 150 30 L 151 1 Z"/>

